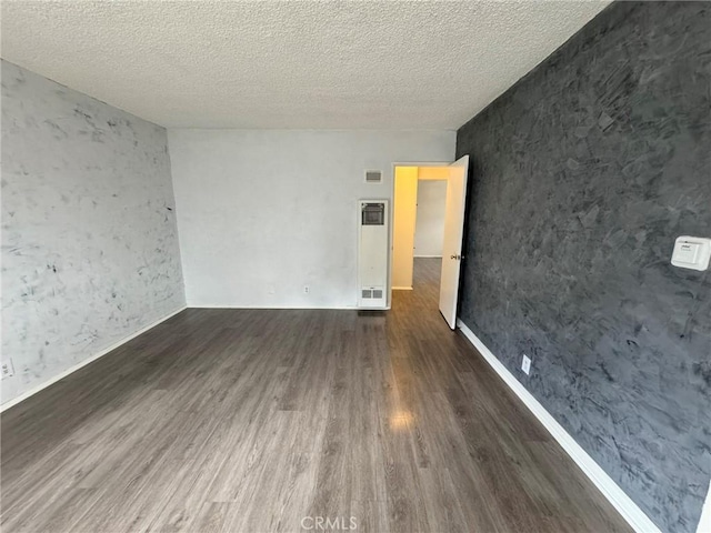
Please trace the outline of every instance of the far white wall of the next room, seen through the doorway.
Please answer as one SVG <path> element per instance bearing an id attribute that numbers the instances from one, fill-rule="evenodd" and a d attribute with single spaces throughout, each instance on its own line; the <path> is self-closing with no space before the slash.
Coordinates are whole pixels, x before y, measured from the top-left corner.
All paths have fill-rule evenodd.
<path id="1" fill-rule="evenodd" d="M 441 258 L 444 241 L 447 181 L 420 180 L 414 228 L 414 257 Z"/>

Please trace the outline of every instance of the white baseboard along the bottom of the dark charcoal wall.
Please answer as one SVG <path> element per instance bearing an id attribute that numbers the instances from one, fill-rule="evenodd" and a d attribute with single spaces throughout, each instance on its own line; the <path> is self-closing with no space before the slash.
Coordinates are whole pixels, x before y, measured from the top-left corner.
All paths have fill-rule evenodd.
<path id="1" fill-rule="evenodd" d="M 543 424 L 548 432 L 558 441 L 563 450 L 575 462 L 580 470 L 594 483 L 608 501 L 618 510 L 622 517 L 638 533 L 660 533 L 659 527 L 628 496 L 624 491 L 610 477 L 602 467 L 585 452 L 578 442 L 545 411 L 543 405 L 513 376 L 483 342 L 461 320 L 457 325 L 474 348 L 483 355 L 491 368 L 499 374 L 509 389 L 525 404 L 533 415 Z"/>

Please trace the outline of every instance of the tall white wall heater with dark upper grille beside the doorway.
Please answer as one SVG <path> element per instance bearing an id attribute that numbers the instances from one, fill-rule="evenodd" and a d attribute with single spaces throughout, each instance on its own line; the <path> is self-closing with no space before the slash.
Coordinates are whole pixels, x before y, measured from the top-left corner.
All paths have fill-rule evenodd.
<path id="1" fill-rule="evenodd" d="M 388 200 L 358 202 L 358 306 L 388 306 Z"/>

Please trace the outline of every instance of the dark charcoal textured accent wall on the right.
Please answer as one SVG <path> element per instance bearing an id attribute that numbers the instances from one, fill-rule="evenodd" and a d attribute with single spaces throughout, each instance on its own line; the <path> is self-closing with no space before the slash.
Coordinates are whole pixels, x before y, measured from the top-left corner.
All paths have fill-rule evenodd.
<path id="1" fill-rule="evenodd" d="M 670 532 L 711 477 L 711 273 L 670 264 L 711 237 L 710 8 L 611 4 L 457 135 L 460 316 Z"/>

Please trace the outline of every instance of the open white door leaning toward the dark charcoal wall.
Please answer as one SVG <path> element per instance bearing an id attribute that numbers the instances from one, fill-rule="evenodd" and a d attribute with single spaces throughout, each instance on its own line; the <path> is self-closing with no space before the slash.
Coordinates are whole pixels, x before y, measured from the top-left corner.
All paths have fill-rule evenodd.
<path id="1" fill-rule="evenodd" d="M 462 237 L 464 234 L 468 173 L 469 155 L 464 155 L 450 164 L 449 179 L 447 180 L 440 312 L 452 330 L 457 326 L 457 296 L 462 259 Z"/>

